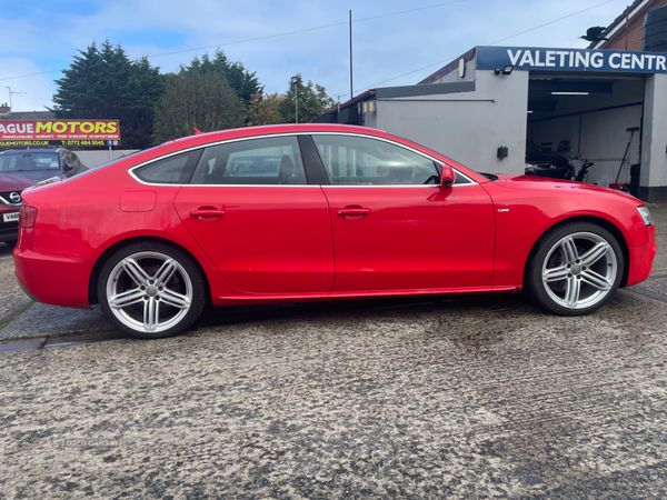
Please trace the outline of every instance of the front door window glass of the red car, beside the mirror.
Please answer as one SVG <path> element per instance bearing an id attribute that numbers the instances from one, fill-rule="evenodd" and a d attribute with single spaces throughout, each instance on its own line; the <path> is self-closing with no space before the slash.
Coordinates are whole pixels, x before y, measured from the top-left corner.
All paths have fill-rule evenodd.
<path id="1" fill-rule="evenodd" d="M 435 162 L 399 146 L 352 136 L 312 136 L 332 184 L 437 184 Z"/>

